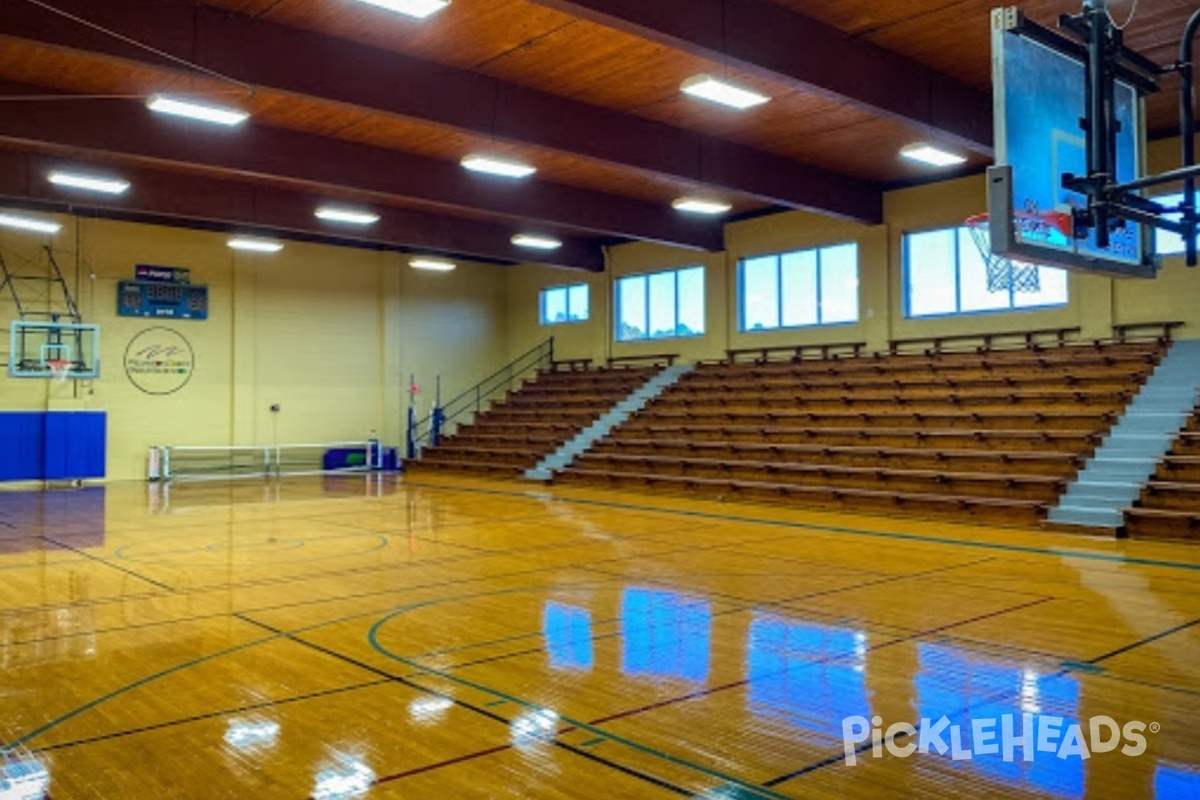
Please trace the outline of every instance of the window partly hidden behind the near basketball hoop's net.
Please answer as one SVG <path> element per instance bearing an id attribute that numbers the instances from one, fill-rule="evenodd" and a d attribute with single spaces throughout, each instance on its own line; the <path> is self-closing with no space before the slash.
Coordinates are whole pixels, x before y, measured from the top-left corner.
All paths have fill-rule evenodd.
<path id="1" fill-rule="evenodd" d="M 992 291 L 988 266 L 964 228 L 904 237 L 905 315 L 938 317 L 1067 305 L 1067 272 L 1038 267 L 1037 291 Z"/>

